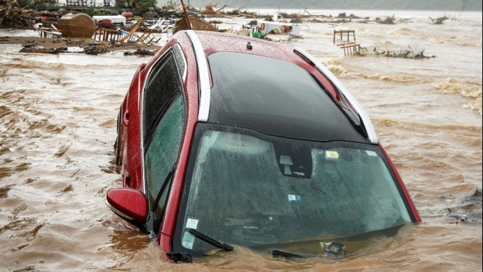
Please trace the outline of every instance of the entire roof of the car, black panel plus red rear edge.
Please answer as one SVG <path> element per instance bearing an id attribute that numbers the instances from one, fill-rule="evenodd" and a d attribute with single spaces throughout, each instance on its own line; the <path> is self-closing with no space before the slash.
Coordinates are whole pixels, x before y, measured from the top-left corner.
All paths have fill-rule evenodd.
<path id="1" fill-rule="evenodd" d="M 200 104 L 209 104 L 200 121 L 297 139 L 367 142 L 333 85 L 294 49 L 242 35 L 193 33 L 206 59 L 198 70 L 206 66 L 209 80 L 209 98 L 200 93 Z"/>

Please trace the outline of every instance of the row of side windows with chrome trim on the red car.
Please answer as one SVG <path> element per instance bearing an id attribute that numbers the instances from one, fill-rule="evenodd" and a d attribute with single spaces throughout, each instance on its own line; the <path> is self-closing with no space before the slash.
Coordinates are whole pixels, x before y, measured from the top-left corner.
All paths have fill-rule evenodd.
<path id="1" fill-rule="evenodd" d="M 184 63 L 176 58 L 177 46 L 153 65 L 143 91 L 144 192 L 149 203 L 148 231 L 156 235 L 186 124 Z"/>

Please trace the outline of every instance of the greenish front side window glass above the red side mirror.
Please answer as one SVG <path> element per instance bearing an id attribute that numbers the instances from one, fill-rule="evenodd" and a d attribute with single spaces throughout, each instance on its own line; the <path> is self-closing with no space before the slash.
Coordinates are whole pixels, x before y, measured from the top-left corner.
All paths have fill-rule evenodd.
<path id="1" fill-rule="evenodd" d="M 150 210 L 155 208 L 155 199 L 163 185 L 168 173 L 176 163 L 185 124 L 186 115 L 184 96 L 180 95 L 173 106 L 168 110 L 145 154 L 146 182 L 148 185 L 148 199 Z M 168 180 L 168 182 L 171 180 Z M 166 201 L 170 186 L 166 186 L 157 208 L 162 208 Z M 160 210 L 157 210 L 158 216 Z"/>

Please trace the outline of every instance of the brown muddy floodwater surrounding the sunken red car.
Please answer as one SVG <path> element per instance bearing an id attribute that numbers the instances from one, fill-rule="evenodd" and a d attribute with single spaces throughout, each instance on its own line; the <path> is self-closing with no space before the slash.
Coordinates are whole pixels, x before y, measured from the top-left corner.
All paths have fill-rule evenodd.
<path id="1" fill-rule="evenodd" d="M 366 14 L 356 13 L 377 15 Z M 431 24 L 435 14 L 449 19 Z M 338 260 L 280 260 L 235 245 L 175 264 L 104 203 L 122 186 L 118 108 L 150 57 L 0 44 L 0 271 L 482 271 L 482 13 L 383 15 L 397 24 L 304 22 L 299 42 L 285 44 L 312 53 L 365 108 L 422 223 Z M 219 20 L 239 28 L 251 19 Z M 354 30 L 366 56 L 345 57 L 335 29 Z M 36 33 L 0 30 L 7 35 Z M 373 53 L 409 48 L 434 58 Z"/>

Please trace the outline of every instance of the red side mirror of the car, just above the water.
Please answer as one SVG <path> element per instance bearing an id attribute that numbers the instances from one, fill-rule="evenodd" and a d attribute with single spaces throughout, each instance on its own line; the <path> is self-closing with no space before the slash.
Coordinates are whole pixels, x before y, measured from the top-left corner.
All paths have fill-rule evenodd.
<path id="1" fill-rule="evenodd" d="M 106 205 L 122 219 L 135 226 L 148 219 L 148 199 L 143 192 L 130 188 L 109 189 L 106 194 Z"/>

